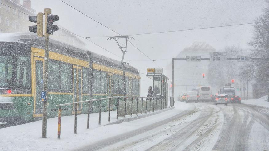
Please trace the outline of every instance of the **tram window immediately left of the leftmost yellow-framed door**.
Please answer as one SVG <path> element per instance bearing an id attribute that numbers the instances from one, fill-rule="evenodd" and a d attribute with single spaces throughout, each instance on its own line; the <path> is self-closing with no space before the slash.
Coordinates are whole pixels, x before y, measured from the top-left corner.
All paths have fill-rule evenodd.
<path id="1" fill-rule="evenodd" d="M 16 87 L 30 87 L 31 76 L 30 75 L 30 58 L 18 57 L 17 58 L 17 79 Z"/>

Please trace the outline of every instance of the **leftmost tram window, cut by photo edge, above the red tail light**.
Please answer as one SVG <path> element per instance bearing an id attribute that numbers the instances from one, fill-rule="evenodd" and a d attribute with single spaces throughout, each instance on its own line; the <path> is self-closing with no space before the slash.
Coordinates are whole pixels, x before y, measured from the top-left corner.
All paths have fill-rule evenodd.
<path id="1" fill-rule="evenodd" d="M 0 56 L 0 86 L 12 86 L 12 62 L 11 56 Z"/>

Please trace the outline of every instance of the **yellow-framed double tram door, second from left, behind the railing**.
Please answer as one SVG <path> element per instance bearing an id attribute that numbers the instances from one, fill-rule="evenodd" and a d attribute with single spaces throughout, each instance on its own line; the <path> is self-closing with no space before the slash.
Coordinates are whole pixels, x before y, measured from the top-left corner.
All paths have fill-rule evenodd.
<path id="1" fill-rule="evenodd" d="M 73 102 L 82 100 L 82 72 L 81 67 L 73 65 Z M 77 113 L 80 114 L 82 110 L 82 103 L 78 103 Z M 75 113 L 75 104 L 73 104 L 73 111 Z"/>

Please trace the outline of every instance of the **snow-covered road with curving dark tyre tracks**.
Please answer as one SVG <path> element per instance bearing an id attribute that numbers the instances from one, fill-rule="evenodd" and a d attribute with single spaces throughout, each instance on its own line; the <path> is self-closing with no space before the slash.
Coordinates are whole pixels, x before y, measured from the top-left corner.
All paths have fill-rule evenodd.
<path id="1" fill-rule="evenodd" d="M 269 150 L 269 109 L 191 104 L 196 108 L 78 150 Z"/>

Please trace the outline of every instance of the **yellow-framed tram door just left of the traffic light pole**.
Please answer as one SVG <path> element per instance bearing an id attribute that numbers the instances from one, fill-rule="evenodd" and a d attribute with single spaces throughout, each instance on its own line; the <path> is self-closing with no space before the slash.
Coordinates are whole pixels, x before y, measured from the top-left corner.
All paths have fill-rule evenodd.
<path id="1" fill-rule="evenodd" d="M 44 59 L 34 57 L 34 113 L 33 117 L 42 117 L 43 104 L 40 101 L 41 91 L 44 88 Z"/>

